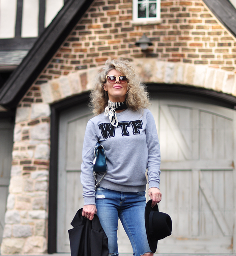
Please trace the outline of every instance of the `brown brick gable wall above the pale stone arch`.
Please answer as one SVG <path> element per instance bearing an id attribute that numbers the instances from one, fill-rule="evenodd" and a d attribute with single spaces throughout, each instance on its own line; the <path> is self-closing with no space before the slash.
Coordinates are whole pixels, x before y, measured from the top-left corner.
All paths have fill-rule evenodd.
<path id="1" fill-rule="evenodd" d="M 153 43 L 147 51 L 135 46 L 143 33 Z M 132 25 L 131 0 L 96 0 L 23 102 L 40 101 L 38 85 L 113 57 L 149 57 L 233 71 L 236 41 L 202 0 L 161 0 L 161 23 L 143 26 Z"/>

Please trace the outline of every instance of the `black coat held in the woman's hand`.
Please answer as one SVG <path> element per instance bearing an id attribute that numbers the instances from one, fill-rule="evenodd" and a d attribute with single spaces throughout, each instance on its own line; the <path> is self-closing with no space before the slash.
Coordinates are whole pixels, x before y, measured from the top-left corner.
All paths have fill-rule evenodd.
<path id="1" fill-rule="evenodd" d="M 82 211 L 77 211 L 71 222 L 73 229 L 68 230 L 71 256 L 108 256 L 108 238 L 98 216 L 89 220 Z"/>

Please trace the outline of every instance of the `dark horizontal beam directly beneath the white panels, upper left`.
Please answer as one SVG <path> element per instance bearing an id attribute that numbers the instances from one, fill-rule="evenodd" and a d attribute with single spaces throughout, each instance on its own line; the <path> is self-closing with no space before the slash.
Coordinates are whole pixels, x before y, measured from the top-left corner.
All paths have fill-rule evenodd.
<path id="1" fill-rule="evenodd" d="M 0 40 L 0 51 L 2 50 L 30 50 L 37 38 L 7 38 Z"/>

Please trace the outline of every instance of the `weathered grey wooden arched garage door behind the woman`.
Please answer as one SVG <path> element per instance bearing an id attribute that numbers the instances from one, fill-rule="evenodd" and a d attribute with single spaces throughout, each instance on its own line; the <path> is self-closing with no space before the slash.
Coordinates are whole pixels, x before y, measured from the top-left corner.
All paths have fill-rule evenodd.
<path id="1" fill-rule="evenodd" d="M 232 253 L 235 111 L 189 97 L 154 97 L 151 112 L 161 147 L 163 200 L 172 235 L 159 253 Z M 57 251 L 69 252 L 67 230 L 83 206 L 80 165 L 86 105 L 64 111 L 59 126 Z M 132 252 L 123 229 L 119 251 Z"/>

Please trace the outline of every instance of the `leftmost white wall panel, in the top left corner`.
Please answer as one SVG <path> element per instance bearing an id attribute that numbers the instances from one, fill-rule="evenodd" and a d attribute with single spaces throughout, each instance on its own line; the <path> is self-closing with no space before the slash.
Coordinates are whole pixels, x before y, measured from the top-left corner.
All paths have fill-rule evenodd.
<path id="1" fill-rule="evenodd" d="M 0 1 L 0 38 L 15 37 L 17 0 Z"/>

